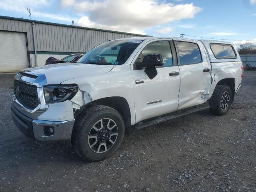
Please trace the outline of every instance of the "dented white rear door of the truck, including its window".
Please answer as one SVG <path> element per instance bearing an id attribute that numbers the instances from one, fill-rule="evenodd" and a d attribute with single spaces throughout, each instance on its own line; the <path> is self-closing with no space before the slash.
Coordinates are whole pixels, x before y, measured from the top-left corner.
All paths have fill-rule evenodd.
<path id="1" fill-rule="evenodd" d="M 208 100 L 211 86 L 211 65 L 201 42 L 177 40 L 175 46 L 180 68 L 178 110 Z"/>

